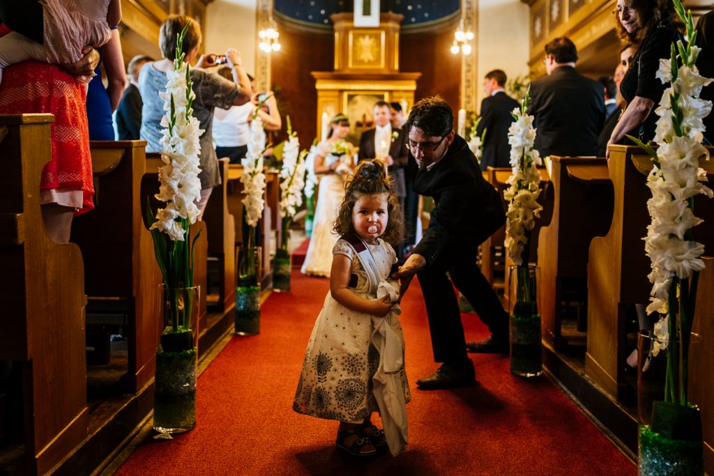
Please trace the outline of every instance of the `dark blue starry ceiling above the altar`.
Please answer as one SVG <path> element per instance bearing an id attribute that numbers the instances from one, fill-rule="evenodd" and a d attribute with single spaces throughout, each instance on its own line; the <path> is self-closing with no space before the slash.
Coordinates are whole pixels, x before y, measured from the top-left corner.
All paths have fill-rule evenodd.
<path id="1" fill-rule="evenodd" d="M 381 0 L 380 10 L 402 14 L 402 28 L 426 26 L 458 14 L 461 0 Z M 279 16 L 331 29 L 330 15 L 354 11 L 353 0 L 274 0 L 273 11 Z"/>

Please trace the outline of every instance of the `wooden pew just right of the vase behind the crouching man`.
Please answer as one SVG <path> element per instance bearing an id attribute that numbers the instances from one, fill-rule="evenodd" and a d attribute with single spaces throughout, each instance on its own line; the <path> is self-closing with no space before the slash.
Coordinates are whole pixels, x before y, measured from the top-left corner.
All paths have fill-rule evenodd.
<path id="1" fill-rule="evenodd" d="M 566 344 L 560 316 L 566 296 L 587 301 L 588 248 L 605 236 L 613 210 L 613 185 L 605 158 L 551 156 L 553 216 L 538 238 L 538 310 L 543 341 L 555 349 Z M 585 307 L 579 308 L 585 320 Z"/>

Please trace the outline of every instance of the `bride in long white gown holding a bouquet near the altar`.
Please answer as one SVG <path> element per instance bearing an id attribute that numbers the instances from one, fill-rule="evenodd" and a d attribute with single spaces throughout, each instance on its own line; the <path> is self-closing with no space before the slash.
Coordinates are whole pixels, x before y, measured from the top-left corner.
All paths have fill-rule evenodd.
<path id="1" fill-rule="evenodd" d="M 347 116 L 334 116 L 326 140 L 317 145 L 314 168 L 320 177 L 320 188 L 313 233 L 301 269 L 306 275 L 330 277 L 332 248 L 339 238 L 332 228 L 345 196 L 345 179 L 352 173 L 354 166 L 353 146 L 345 141 L 349 128 Z"/>

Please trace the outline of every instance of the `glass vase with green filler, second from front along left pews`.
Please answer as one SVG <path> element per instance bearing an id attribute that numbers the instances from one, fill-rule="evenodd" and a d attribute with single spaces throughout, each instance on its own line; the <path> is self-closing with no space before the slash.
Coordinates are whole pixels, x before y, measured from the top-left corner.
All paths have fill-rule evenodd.
<path id="1" fill-rule="evenodd" d="M 261 247 L 238 248 L 238 285 L 236 286 L 236 334 L 261 332 Z"/>

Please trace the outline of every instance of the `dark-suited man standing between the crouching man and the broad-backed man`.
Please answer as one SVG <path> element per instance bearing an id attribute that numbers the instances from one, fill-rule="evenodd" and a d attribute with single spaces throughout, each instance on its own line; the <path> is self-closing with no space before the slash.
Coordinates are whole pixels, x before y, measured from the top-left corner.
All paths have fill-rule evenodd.
<path id="1" fill-rule="evenodd" d="M 483 156 L 481 157 L 481 170 L 486 167 L 510 167 L 511 146 L 508 145 L 508 128 L 513 123 L 511 111 L 518 107 L 518 101 L 506 94 L 506 73 L 501 69 L 494 69 L 486 74 L 483 80 L 483 91 L 486 98 L 481 101 L 481 121 L 476 128 L 476 135 L 483 138 Z"/>

